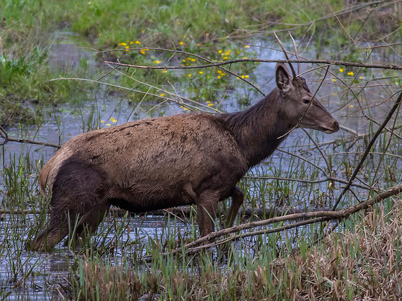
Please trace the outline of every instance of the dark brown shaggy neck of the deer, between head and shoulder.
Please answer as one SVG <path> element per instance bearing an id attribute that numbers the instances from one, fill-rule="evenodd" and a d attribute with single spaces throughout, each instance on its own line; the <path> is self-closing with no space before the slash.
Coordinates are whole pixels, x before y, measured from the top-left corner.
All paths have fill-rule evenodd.
<path id="1" fill-rule="evenodd" d="M 250 167 L 270 156 L 294 126 L 286 118 L 283 103 L 275 88 L 247 110 L 220 115 Z"/>

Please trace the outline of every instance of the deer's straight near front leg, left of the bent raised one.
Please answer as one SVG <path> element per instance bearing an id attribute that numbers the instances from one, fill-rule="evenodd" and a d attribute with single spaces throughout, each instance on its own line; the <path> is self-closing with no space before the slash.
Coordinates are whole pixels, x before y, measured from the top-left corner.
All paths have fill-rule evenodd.
<path id="1" fill-rule="evenodd" d="M 215 191 L 206 191 L 198 196 L 196 205 L 200 237 L 214 232 L 218 201 L 219 195 Z"/>

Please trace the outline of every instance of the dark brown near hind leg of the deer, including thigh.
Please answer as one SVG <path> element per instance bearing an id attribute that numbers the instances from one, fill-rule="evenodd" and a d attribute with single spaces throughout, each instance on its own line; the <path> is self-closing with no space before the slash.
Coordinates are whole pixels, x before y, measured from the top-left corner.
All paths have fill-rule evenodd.
<path id="1" fill-rule="evenodd" d="M 79 232 L 84 224 L 95 228 L 102 219 L 93 220 L 93 215 L 103 218 L 110 206 L 105 199 L 103 175 L 90 166 L 67 160 L 53 183 L 48 226 L 31 242 L 30 248 L 37 250 L 43 246 L 49 250 L 75 227 Z"/>

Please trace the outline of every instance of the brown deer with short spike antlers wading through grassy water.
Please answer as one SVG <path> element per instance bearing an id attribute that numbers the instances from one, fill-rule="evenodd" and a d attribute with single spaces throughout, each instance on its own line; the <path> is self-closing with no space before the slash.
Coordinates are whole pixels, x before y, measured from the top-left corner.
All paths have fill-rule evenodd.
<path id="1" fill-rule="evenodd" d="M 306 80 L 275 68 L 277 87 L 247 110 L 183 113 L 82 133 L 42 168 L 52 193 L 46 228 L 29 248 L 51 249 L 77 224 L 77 238 L 96 231 L 115 205 L 139 213 L 196 204 L 201 236 L 214 231 L 218 202 L 232 197 L 226 226 L 243 203 L 236 186 L 295 127 L 325 133 L 338 122 L 313 97 Z"/>

